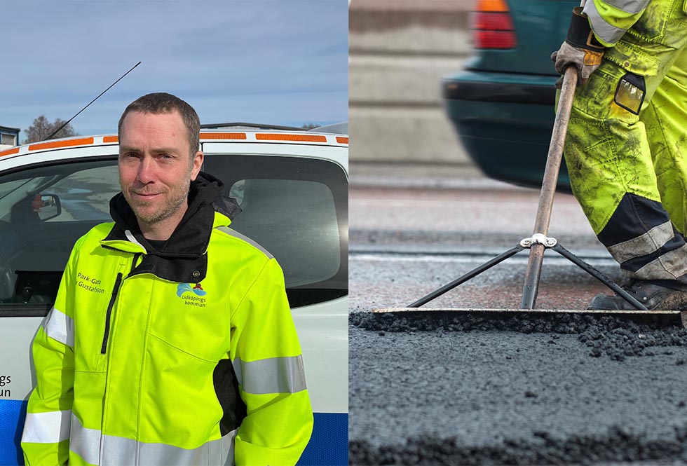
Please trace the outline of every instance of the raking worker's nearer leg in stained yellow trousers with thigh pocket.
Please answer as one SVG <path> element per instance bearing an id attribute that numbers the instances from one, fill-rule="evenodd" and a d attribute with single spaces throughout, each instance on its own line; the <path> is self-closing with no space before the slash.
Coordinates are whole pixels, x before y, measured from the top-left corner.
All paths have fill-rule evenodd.
<path id="1" fill-rule="evenodd" d="M 564 151 L 573 193 L 623 272 L 642 280 L 687 283 L 687 246 L 662 207 L 644 123 L 616 98 L 631 72 L 631 81 L 646 86 L 645 111 L 685 48 L 683 0 L 651 5 L 636 31 L 608 49 L 601 67 L 578 88 Z"/>

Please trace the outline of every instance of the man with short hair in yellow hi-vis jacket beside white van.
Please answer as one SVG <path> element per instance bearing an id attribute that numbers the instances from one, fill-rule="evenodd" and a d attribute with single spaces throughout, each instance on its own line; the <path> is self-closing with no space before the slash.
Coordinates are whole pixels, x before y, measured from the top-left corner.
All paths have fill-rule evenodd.
<path id="1" fill-rule="evenodd" d="M 283 273 L 227 226 L 196 111 L 119 121 L 114 223 L 79 239 L 33 345 L 27 465 L 292 465 L 313 427 Z"/>

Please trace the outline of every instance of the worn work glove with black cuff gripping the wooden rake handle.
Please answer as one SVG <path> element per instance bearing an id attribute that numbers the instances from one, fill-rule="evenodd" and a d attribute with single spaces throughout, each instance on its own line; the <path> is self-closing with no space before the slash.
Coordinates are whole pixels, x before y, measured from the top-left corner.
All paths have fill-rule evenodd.
<path id="1" fill-rule="evenodd" d="M 587 79 L 601 64 L 604 50 L 606 48 L 597 41 L 594 32 L 592 32 L 587 15 L 582 13 L 582 7 L 578 6 L 573 9 L 568 36 L 561 48 L 551 54 L 551 60 L 555 63 L 556 71 L 560 74 L 564 74 L 565 69 L 570 65 L 576 67 L 578 83 L 585 85 Z M 556 81 L 556 88 L 560 89 L 562 86 L 563 76 Z"/>

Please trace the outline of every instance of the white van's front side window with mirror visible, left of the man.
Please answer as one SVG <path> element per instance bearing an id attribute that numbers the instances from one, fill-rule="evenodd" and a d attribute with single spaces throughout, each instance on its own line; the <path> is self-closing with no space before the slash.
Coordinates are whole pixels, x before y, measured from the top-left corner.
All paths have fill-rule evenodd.
<path id="1" fill-rule="evenodd" d="M 0 176 L 0 303 L 52 303 L 74 242 L 109 221 L 107 200 L 118 186 L 113 157 L 22 167 Z"/>

